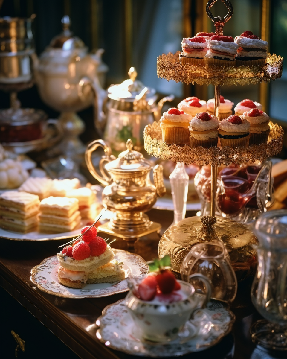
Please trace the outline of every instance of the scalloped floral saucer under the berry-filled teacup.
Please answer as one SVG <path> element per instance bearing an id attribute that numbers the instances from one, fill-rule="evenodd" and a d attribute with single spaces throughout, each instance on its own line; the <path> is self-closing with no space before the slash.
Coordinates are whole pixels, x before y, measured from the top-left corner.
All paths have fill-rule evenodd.
<path id="1" fill-rule="evenodd" d="M 211 300 L 187 322 L 177 339 L 168 344 L 147 342 L 132 320 L 125 299 L 105 307 L 96 325 L 97 338 L 109 348 L 140 356 L 179 356 L 217 344 L 232 328 L 234 314 L 224 303 Z"/>

